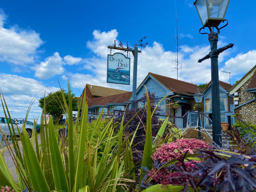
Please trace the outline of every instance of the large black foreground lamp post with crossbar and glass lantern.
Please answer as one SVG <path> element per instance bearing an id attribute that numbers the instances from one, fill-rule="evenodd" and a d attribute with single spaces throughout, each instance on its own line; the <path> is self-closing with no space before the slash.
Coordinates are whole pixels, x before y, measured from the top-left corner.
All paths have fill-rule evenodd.
<path id="1" fill-rule="evenodd" d="M 225 14 L 228 9 L 229 0 L 196 0 L 194 5 L 200 17 L 203 27 L 199 29 L 199 33 L 205 27 L 209 28 L 208 40 L 211 45 L 209 54 L 199 59 L 198 62 L 211 58 L 211 74 L 212 74 L 212 140 L 222 145 L 221 137 L 221 120 L 220 120 L 220 90 L 219 90 L 219 68 L 218 55 L 226 49 L 233 47 L 234 44 L 229 44 L 225 47 L 217 49 L 218 34 L 220 29 L 228 25 L 228 20 L 225 20 Z M 227 21 L 226 25 L 218 28 L 221 22 Z M 214 32 L 214 28 L 217 32 Z"/>

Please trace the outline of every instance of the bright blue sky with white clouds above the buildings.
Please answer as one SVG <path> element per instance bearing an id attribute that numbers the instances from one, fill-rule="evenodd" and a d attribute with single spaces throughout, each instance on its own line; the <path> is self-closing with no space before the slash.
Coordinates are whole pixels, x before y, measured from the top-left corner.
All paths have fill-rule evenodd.
<path id="1" fill-rule="evenodd" d="M 178 78 L 208 83 L 210 60 L 200 64 L 197 60 L 210 51 L 210 46 L 207 35 L 198 32 L 201 22 L 192 3 L 176 2 L 182 41 Z M 219 56 L 222 81 L 229 82 L 229 75 L 221 70 L 231 72 L 233 84 L 256 64 L 254 7 L 253 0 L 229 3 L 225 17 L 229 24 L 220 31 L 218 45 L 235 45 Z M 148 42 L 148 46 L 138 56 L 138 84 L 148 72 L 177 78 L 172 72 L 177 51 L 172 38 L 177 35 L 174 0 L 1 1 L 0 9 L 0 87 L 13 118 L 23 118 L 32 98 L 42 97 L 43 90 L 58 90 L 58 80 L 66 89 L 68 79 L 77 96 L 85 84 L 131 91 L 132 84 L 106 83 L 107 46 L 115 39 L 128 41 L 133 47 L 147 36 L 143 43 Z M 130 57 L 132 69 L 132 54 Z M 30 118 L 40 115 L 37 105 L 36 100 Z"/>

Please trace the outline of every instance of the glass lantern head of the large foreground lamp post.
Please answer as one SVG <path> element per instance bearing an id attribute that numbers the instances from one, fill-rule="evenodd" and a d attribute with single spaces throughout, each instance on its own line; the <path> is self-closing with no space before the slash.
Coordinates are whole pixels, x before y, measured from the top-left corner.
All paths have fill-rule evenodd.
<path id="1" fill-rule="evenodd" d="M 203 26 L 206 26 L 206 20 L 213 21 L 214 27 L 217 27 L 221 20 L 224 20 L 230 0 L 196 0 L 194 5 L 200 17 Z M 219 21 L 217 21 L 219 20 Z"/>

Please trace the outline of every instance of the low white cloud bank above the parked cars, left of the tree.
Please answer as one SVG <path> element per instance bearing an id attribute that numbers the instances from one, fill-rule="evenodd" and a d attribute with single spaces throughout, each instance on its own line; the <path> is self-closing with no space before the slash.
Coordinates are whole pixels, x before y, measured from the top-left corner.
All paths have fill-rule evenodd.
<path id="1" fill-rule="evenodd" d="M 12 118 L 24 118 L 29 103 L 35 99 L 29 113 L 29 118 L 37 117 L 41 114 L 41 108 L 38 107 L 38 100 L 49 92 L 59 90 L 56 87 L 45 87 L 41 82 L 35 79 L 25 78 L 17 75 L 0 74 L 0 88 L 3 91 L 4 99 L 10 110 Z M 3 116 L 3 107 L 0 104 L 0 116 Z"/>

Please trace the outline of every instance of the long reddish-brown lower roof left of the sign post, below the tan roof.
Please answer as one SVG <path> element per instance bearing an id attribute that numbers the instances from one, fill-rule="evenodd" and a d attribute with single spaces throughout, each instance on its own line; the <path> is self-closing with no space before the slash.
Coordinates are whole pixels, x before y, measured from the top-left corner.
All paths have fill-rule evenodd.
<path id="1" fill-rule="evenodd" d="M 125 92 L 116 95 L 99 97 L 91 100 L 88 103 L 88 107 L 92 107 L 94 105 L 106 105 L 108 103 L 124 103 L 124 101 L 129 100 L 132 97 L 132 92 Z"/>

